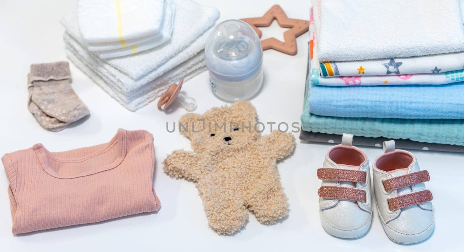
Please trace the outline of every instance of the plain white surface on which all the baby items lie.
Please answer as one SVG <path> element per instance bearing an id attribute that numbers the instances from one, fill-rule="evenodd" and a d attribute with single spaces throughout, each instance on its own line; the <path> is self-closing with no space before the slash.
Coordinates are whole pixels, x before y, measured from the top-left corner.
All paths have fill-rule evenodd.
<path id="1" fill-rule="evenodd" d="M 220 20 L 259 17 L 274 3 L 290 18 L 309 20 L 309 0 L 199 0 L 216 6 Z M 261 225 L 250 214 L 249 222 L 232 236 L 221 236 L 208 227 L 198 189 L 192 182 L 176 180 L 162 171 L 162 160 L 175 149 L 190 149 L 178 132 L 168 133 L 166 122 L 186 113 L 176 109 L 167 114 L 156 103 L 129 112 L 71 64 L 72 87 L 90 109 L 90 117 L 62 132 L 39 126 L 26 108 L 26 75 L 31 63 L 67 60 L 59 24 L 65 14 L 76 11 L 75 0 L 1 0 L 1 123 L 0 155 L 42 143 L 50 151 L 64 151 L 109 141 L 118 128 L 145 129 L 155 137 L 154 186 L 162 207 L 157 213 L 138 214 L 101 223 L 56 228 L 25 235 L 11 233 L 6 176 L 0 175 L 0 246 L 2 251 L 450 251 L 458 250 L 463 230 L 464 156 L 456 153 L 413 151 L 432 180 L 435 232 L 417 245 L 398 245 L 384 233 L 374 210 L 372 227 L 364 237 L 338 239 L 325 233 L 318 214 L 316 169 L 331 145 L 297 140 L 292 157 L 278 164 L 281 181 L 289 198 L 288 218 L 275 225 Z M 219 21 L 220 21 L 219 20 Z M 374 24 L 373 24 L 374 25 Z M 362 29 L 362 27 L 360 27 Z M 285 29 L 274 22 L 263 28 L 263 38 L 283 39 Z M 298 54 L 289 56 L 264 51 L 264 88 L 252 100 L 262 122 L 300 122 L 307 65 L 308 34 L 297 39 Z M 183 90 L 196 99 L 203 113 L 223 105 L 210 91 L 208 74 L 193 78 Z M 172 124 L 171 124 L 172 125 Z M 267 132 L 267 131 L 266 131 Z M 298 139 L 299 133 L 295 134 Z M 371 160 L 381 148 L 361 147 Z M 0 174 L 3 172 L 0 172 Z M 3 173 L 4 174 L 4 173 Z"/>

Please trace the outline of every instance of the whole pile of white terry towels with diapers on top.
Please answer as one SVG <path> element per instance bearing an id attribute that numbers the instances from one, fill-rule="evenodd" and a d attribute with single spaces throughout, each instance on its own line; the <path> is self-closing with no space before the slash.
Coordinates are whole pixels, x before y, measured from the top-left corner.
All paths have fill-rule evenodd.
<path id="1" fill-rule="evenodd" d="M 206 70 L 203 50 L 217 19 L 216 8 L 192 0 L 79 0 L 61 24 L 71 62 L 135 111 Z"/>

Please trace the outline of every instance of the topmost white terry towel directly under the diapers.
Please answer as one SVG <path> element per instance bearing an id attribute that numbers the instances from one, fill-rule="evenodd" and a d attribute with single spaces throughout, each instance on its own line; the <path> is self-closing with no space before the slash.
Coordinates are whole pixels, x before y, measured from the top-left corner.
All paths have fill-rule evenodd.
<path id="1" fill-rule="evenodd" d="M 140 79 L 154 69 L 160 68 L 169 59 L 192 44 L 219 19 L 219 11 L 214 7 L 199 5 L 191 0 L 174 0 L 174 3 L 176 6 L 174 30 L 168 42 L 140 53 L 102 59 L 102 61 L 120 70 L 133 80 Z M 72 37 L 77 38 L 80 44 L 85 44 L 84 39 L 81 38 L 75 15 L 65 16 L 61 19 L 61 24 Z"/>

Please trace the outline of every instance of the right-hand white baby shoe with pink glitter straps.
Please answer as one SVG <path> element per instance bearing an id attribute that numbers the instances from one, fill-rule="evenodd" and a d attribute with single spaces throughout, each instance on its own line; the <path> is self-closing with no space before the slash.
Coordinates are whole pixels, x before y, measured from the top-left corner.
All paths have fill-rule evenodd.
<path id="1" fill-rule="evenodd" d="M 395 141 L 383 143 L 384 154 L 373 165 L 374 194 L 388 238 L 410 244 L 427 239 L 435 227 L 430 180 L 409 151 L 396 150 Z"/>

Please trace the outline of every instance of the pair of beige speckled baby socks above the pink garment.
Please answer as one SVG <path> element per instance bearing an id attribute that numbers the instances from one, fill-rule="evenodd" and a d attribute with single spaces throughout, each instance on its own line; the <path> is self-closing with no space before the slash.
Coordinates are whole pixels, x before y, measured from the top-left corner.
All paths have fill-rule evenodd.
<path id="1" fill-rule="evenodd" d="M 29 110 L 45 128 L 60 131 L 90 113 L 72 89 L 70 79 L 68 62 L 31 65 Z"/>

